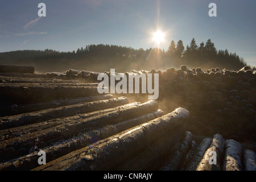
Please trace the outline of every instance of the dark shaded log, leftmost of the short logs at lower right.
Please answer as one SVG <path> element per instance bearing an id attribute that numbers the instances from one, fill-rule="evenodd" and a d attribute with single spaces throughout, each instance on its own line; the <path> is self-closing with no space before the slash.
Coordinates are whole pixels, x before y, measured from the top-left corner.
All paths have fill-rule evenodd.
<path id="1" fill-rule="evenodd" d="M 189 131 L 185 132 L 185 137 L 183 141 L 180 142 L 177 150 L 175 150 L 174 154 L 171 154 L 167 162 L 164 163 L 164 166 L 160 168 L 160 171 L 177 171 L 180 169 L 182 160 L 187 154 L 189 147 L 191 146 L 193 134 Z"/>

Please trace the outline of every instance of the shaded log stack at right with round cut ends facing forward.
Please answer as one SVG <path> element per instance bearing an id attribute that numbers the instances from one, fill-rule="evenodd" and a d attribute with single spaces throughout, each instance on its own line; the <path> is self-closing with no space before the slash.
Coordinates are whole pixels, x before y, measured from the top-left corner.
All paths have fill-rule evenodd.
<path id="1" fill-rule="evenodd" d="M 241 142 L 255 140 L 256 74 L 249 67 L 203 71 L 181 65 L 180 69 L 132 71 L 135 73 L 159 74 L 157 101 L 167 105 L 166 111 L 180 106 L 187 109 L 190 122 L 186 130 L 208 137 L 220 133 Z"/>

